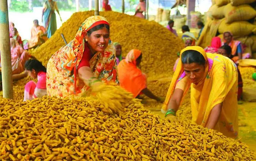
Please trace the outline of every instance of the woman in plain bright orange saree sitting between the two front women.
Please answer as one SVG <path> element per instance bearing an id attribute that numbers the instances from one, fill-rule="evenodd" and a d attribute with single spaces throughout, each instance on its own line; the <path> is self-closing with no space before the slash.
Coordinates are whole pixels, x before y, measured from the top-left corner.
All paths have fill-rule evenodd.
<path id="1" fill-rule="evenodd" d="M 143 93 L 151 99 L 163 102 L 160 97 L 155 96 L 148 90 L 146 85 L 146 74 L 142 73 L 141 70 L 137 68 L 141 59 L 141 51 L 133 49 L 127 54 L 125 60 L 122 60 L 119 63 L 118 75 L 120 86 L 126 89 L 126 91 L 133 93 L 134 98 Z"/>

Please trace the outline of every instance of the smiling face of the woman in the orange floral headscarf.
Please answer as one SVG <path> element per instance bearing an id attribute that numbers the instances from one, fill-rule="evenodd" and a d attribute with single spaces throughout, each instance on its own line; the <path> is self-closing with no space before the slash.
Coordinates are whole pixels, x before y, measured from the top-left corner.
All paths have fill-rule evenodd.
<path id="1" fill-rule="evenodd" d="M 93 31 L 89 37 L 86 35 L 85 38 L 88 40 L 88 44 L 93 53 L 102 53 L 108 46 L 110 32 L 106 27 L 103 27 L 100 30 Z"/>

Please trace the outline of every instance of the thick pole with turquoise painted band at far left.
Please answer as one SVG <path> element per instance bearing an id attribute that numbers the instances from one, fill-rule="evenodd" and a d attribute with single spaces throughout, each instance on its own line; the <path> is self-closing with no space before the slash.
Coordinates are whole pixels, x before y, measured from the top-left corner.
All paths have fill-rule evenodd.
<path id="1" fill-rule="evenodd" d="M 3 97 L 13 99 L 10 31 L 7 0 L 0 0 L 0 51 Z"/>

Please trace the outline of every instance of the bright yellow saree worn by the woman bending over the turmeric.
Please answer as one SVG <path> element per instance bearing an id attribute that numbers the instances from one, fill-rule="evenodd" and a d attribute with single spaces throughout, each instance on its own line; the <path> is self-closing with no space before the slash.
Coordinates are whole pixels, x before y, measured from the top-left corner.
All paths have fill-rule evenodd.
<path id="1" fill-rule="evenodd" d="M 181 55 L 187 50 L 199 51 L 206 60 L 205 78 L 197 85 L 188 81 L 183 92 L 184 98 L 189 87 L 191 88 L 192 122 L 205 127 L 209 121 L 212 108 L 216 104 L 223 103 L 220 118 L 214 129 L 227 137 L 237 137 L 237 66 L 227 57 L 219 54 L 205 53 L 204 49 L 199 46 L 186 47 L 181 51 Z M 162 111 L 167 111 L 167 105 L 174 93 L 176 84 L 185 76 L 180 56 Z"/>

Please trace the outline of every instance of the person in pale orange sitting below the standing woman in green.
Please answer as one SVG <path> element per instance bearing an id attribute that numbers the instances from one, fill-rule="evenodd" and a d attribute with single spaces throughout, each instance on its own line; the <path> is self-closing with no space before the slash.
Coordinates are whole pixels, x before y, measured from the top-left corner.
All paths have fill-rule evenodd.
<path id="1" fill-rule="evenodd" d="M 38 20 L 33 21 L 34 26 L 31 28 L 31 39 L 29 48 L 37 47 L 47 41 L 47 33 L 43 26 L 38 24 Z"/>

